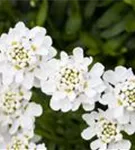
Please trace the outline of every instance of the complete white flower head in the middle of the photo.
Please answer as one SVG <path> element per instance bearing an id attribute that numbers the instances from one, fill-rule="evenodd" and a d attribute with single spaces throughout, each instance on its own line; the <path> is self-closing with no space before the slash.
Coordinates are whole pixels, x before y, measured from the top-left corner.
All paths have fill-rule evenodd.
<path id="1" fill-rule="evenodd" d="M 81 48 L 75 48 L 73 55 L 61 52 L 60 60 L 52 59 L 44 65 L 39 79 L 42 91 L 52 95 L 53 110 L 75 111 L 81 104 L 85 110 L 94 108 L 105 89 L 100 78 L 104 67 L 97 63 L 89 72 L 91 62 L 92 58 L 84 57 Z"/>

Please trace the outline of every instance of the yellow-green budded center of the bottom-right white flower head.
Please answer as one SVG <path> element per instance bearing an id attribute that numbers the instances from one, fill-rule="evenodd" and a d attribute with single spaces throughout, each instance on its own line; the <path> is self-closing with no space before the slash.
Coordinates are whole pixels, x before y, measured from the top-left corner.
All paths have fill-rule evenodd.
<path id="1" fill-rule="evenodd" d="M 100 121 L 100 130 L 97 136 L 104 143 L 110 143 L 115 140 L 117 134 L 117 125 L 115 123 L 104 119 Z"/>

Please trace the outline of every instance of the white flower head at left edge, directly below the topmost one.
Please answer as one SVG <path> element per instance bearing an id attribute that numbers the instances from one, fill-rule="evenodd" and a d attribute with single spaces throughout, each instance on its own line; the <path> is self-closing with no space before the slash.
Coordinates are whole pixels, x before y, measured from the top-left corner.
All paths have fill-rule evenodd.
<path id="1" fill-rule="evenodd" d="M 29 102 L 32 93 L 17 84 L 2 85 L 0 90 L 0 123 L 11 134 L 21 129 L 33 129 L 35 117 L 42 114 L 40 105 Z"/>

